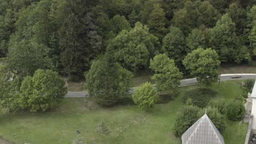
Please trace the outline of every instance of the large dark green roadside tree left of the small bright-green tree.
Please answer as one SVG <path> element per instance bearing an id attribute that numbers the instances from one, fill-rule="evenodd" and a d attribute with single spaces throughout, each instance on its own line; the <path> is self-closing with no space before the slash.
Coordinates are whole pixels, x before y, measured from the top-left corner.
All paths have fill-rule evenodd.
<path id="1" fill-rule="evenodd" d="M 85 77 L 89 95 L 96 95 L 102 106 L 112 106 L 130 88 L 132 73 L 106 56 L 94 61 Z"/>

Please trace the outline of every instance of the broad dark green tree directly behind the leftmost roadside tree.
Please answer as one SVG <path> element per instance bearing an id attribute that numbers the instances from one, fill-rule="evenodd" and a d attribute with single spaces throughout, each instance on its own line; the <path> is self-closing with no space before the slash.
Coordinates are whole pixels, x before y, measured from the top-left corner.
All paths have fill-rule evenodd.
<path id="1" fill-rule="evenodd" d="M 12 41 L 9 45 L 9 58 L 7 69 L 23 79 L 27 75 L 33 75 L 37 69 L 49 69 L 52 67 L 48 56 L 49 47 L 26 40 Z"/>

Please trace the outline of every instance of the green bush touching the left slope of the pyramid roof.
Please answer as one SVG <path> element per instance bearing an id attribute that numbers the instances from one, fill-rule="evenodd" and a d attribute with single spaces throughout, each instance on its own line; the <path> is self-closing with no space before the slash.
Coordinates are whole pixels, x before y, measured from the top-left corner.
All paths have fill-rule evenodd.
<path id="1" fill-rule="evenodd" d="M 198 119 L 198 112 L 201 109 L 193 105 L 185 105 L 181 114 L 176 118 L 172 133 L 175 136 L 181 136 L 191 125 L 193 125 Z"/>

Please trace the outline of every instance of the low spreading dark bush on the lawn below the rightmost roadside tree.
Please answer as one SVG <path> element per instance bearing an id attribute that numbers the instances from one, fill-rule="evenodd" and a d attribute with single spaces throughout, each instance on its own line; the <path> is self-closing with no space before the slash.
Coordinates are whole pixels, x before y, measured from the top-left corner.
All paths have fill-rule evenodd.
<path id="1" fill-rule="evenodd" d="M 215 94 L 216 92 L 208 88 L 193 89 L 185 93 L 184 104 L 188 98 L 191 98 L 194 105 L 206 107 L 211 97 L 213 97 Z"/>

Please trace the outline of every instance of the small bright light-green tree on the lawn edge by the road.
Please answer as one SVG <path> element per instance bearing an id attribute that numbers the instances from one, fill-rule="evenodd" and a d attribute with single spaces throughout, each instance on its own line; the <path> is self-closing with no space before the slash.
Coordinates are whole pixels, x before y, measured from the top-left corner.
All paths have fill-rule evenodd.
<path id="1" fill-rule="evenodd" d="M 143 83 L 136 92 L 132 94 L 132 99 L 139 109 L 148 110 L 154 107 L 158 100 L 158 94 L 150 82 Z"/>

